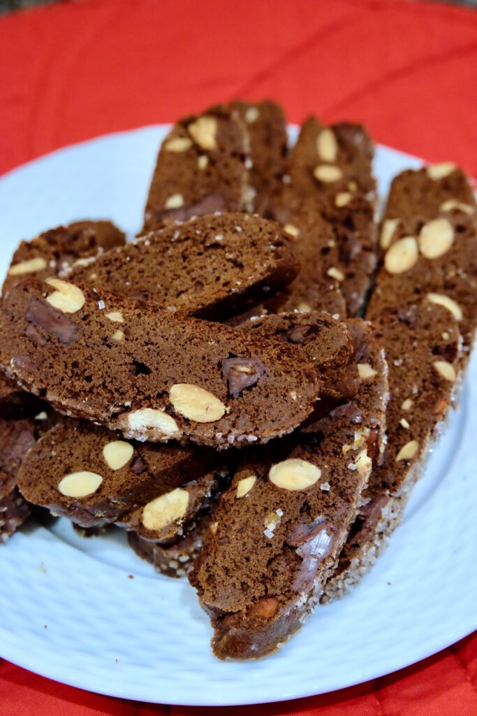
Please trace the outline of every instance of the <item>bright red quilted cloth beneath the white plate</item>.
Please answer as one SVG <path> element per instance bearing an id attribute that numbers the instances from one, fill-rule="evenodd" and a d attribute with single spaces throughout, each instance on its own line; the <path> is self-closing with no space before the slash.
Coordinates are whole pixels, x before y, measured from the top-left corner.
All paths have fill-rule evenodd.
<path id="1" fill-rule="evenodd" d="M 477 175 L 477 13 L 395 0 L 84 0 L 0 19 L 0 173 L 64 145 L 274 97 Z M 1 221 L 1 218 L 0 218 Z M 8 546 L 4 547 L 8 548 Z M 0 647 L 1 650 L 1 647 Z M 217 716 L 477 715 L 477 637 L 331 695 Z M 0 716 L 202 716 L 0 661 Z"/>

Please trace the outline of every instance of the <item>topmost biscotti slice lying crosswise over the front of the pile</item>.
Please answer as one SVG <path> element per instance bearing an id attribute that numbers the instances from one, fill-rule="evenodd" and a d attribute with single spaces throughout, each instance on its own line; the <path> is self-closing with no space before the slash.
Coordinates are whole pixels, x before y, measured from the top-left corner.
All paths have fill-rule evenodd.
<path id="1" fill-rule="evenodd" d="M 137 440 L 227 448 L 291 432 L 320 392 L 300 348 L 60 279 L 12 286 L 0 362 L 60 412 Z M 232 395 L 230 359 L 257 379 Z"/>

